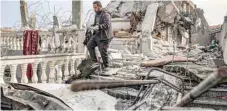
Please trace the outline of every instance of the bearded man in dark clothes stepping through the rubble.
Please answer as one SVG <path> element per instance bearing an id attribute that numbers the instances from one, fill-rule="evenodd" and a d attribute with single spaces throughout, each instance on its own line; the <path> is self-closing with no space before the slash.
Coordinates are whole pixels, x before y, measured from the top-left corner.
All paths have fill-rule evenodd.
<path id="1" fill-rule="evenodd" d="M 96 13 L 94 24 L 88 29 L 93 30 L 94 34 L 87 44 L 90 57 L 93 61 L 92 66 L 98 66 L 95 47 L 98 46 L 102 60 L 103 69 L 108 67 L 107 48 L 112 38 L 111 15 L 102 8 L 100 1 L 93 2 L 93 9 Z"/>

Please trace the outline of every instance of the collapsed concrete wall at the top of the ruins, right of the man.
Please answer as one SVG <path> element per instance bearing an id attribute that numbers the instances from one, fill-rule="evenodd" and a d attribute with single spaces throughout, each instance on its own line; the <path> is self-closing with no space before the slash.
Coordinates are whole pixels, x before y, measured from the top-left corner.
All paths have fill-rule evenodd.
<path id="1" fill-rule="evenodd" d="M 190 42 L 204 46 L 211 42 L 209 25 L 203 16 L 203 10 L 196 8 L 191 1 L 111 1 L 106 9 L 111 12 L 112 19 L 129 20 L 127 27 L 130 27 L 129 29 L 114 28 L 114 33 L 124 30 L 131 34 L 135 32 L 143 34 L 142 25 L 147 18 L 147 10 L 150 10 L 148 5 L 154 3 L 158 3 L 158 10 L 153 15 L 155 16 L 154 27 L 150 27 L 153 38 L 169 42 L 175 40 L 178 45 Z M 146 25 L 151 26 L 152 23 L 151 19 L 150 24 Z"/>

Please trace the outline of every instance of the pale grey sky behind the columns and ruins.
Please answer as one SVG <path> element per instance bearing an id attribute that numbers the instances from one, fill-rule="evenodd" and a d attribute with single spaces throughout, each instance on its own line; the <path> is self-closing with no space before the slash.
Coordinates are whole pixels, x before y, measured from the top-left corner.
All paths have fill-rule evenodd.
<path id="1" fill-rule="evenodd" d="M 38 0 L 26 0 L 28 6 L 37 2 Z M 58 12 L 62 21 L 67 21 L 70 17 L 71 12 L 71 0 L 41 0 L 42 5 L 33 5 L 30 8 L 30 12 L 36 10 L 40 16 L 38 16 L 40 24 L 52 20 L 52 15 Z M 48 1 L 49 6 L 48 7 Z M 88 10 L 92 9 L 92 1 L 94 0 L 83 0 L 84 1 L 84 15 Z M 101 0 L 103 6 L 108 4 L 109 0 Z M 227 13 L 227 0 L 193 0 L 199 8 L 204 9 L 205 17 L 210 25 L 222 24 L 224 15 Z M 36 8 L 37 7 L 37 8 Z M 47 12 L 49 17 L 44 16 Z M 41 20 L 41 16 L 48 18 Z M 19 0 L 1 0 L 1 26 L 0 27 L 12 27 L 20 23 L 20 5 Z"/>

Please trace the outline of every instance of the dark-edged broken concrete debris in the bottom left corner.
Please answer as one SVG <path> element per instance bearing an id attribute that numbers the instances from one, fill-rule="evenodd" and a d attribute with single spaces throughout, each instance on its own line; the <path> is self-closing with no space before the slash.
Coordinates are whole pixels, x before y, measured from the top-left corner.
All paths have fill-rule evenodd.
<path id="1" fill-rule="evenodd" d="M 17 84 L 14 84 L 14 86 L 17 87 Z M 32 90 L 29 90 L 29 88 L 27 88 L 28 90 L 22 90 L 20 88 L 18 89 L 15 87 L 11 87 L 11 88 L 10 87 L 11 87 L 10 85 L 9 86 L 1 85 L 1 93 L 2 93 L 1 97 L 6 99 L 6 101 L 10 100 L 11 102 L 12 101 L 17 102 L 13 104 L 13 106 L 8 107 L 11 110 L 12 109 L 72 110 L 68 105 L 62 102 L 62 100 L 56 99 L 56 97 L 53 97 L 52 95 L 48 95 L 47 93 L 43 94 L 38 89 L 32 91 Z M 10 101 L 8 104 L 12 104 Z M 23 104 L 23 105 L 20 105 L 20 104 Z"/>

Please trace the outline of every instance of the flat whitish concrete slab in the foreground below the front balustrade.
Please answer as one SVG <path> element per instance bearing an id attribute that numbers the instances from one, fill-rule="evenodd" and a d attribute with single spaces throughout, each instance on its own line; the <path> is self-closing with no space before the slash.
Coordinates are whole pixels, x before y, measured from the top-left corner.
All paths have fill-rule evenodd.
<path id="1" fill-rule="evenodd" d="M 116 99 L 100 90 L 72 92 L 66 84 L 29 84 L 61 98 L 74 110 L 114 110 Z"/>

